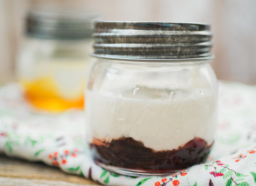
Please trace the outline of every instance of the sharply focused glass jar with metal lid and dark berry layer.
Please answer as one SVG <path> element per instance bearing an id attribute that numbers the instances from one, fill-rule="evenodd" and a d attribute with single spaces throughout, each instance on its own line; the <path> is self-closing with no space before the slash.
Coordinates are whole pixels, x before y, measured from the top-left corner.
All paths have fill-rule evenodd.
<path id="1" fill-rule="evenodd" d="M 163 175 L 206 161 L 218 99 L 209 27 L 95 23 L 86 131 L 97 164 Z"/>

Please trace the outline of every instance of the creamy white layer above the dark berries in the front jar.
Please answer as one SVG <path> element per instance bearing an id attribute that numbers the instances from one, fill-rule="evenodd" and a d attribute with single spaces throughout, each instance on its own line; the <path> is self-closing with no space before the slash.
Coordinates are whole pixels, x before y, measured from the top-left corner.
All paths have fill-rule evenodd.
<path id="1" fill-rule="evenodd" d="M 108 97 L 87 90 L 87 136 L 107 141 L 131 137 L 155 151 L 172 150 L 199 137 L 212 144 L 216 99 L 204 90 L 175 91 L 169 99 Z"/>

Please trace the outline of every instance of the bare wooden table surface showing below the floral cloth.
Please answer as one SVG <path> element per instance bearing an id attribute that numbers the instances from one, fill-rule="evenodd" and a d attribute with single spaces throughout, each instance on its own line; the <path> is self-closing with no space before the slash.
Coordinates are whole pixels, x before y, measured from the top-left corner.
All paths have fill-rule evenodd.
<path id="1" fill-rule="evenodd" d="M 0 186 L 88 186 L 99 183 L 62 172 L 41 162 L 0 156 Z"/>

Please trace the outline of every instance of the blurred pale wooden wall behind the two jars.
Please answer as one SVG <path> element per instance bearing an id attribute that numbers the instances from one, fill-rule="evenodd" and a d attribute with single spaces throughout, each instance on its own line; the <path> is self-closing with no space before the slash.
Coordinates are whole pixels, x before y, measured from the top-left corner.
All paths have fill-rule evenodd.
<path id="1" fill-rule="evenodd" d="M 0 82 L 14 79 L 27 9 L 50 3 L 99 11 L 105 20 L 211 23 L 218 78 L 256 84 L 255 0 L 0 0 Z"/>

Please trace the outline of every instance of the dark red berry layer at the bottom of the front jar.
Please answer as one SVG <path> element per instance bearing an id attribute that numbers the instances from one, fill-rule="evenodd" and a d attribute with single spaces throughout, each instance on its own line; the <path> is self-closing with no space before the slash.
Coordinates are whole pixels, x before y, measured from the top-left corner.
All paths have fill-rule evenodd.
<path id="1" fill-rule="evenodd" d="M 178 149 L 156 152 L 144 147 L 140 141 L 122 137 L 112 140 L 111 143 L 93 139 L 90 146 L 95 148 L 101 157 L 96 161 L 126 169 L 167 172 L 203 163 L 212 144 L 207 145 L 204 139 L 194 138 Z"/>

